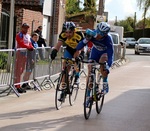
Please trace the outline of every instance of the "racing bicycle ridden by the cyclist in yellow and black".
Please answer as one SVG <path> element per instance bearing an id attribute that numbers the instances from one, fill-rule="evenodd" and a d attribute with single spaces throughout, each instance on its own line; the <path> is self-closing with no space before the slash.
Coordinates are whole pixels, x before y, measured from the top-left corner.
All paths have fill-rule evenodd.
<path id="1" fill-rule="evenodd" d="M 61 71 L 57 80 L 56 93 L 55 93 L 55 107 L 57 110 L 61 108 L 62 104 L 65 102 L 67 95 L 69 95 L 69 104 L 72 106 L 77 98 L 78 89 L 79 89 L 79 84 L 75 84 L 74 82 L 75 74 L 76 74 L 74 58 L 70 59 L 70 58 L 61 57 L 61 60 L 62 59 L 65 60 L 66 65 L 64 69 Z M 68 68 L 70 68 L 69 72 L 68 72 Z M 64 82 L 66 84 L 65 88 L 61 86 L 62 79 L 64 79 Z"/>

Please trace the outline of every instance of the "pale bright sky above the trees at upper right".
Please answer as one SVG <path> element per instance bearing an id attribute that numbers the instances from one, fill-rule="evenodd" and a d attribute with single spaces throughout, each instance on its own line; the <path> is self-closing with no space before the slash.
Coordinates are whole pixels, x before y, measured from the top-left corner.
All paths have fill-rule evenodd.
<path id="1" fill-rule="evenodd" d="M 81 0 L 82 2 L 84 0 Z M 99 0 L 97 0 L 98 4 Z M 124 20 L 128 16 L 133 17 L 136 12 L 137 20 L 142 19 L 143 10 L 137 7 L 137 0 L 105 0 L 105 12 L 108 12 L 108 20 Z"/>

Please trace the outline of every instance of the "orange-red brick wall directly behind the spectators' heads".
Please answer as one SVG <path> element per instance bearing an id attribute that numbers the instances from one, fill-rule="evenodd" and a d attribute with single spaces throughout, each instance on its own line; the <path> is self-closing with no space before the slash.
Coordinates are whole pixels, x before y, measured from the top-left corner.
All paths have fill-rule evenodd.
<path id="1" fill-rule="evenodd" d="M 16 33 L 20 31 L 22 23 L 29 24 L 29 34 L 43 23 L 43 15 L 38 11 L 18 8 L 15 10 L 15 15 L 17 16 Z"/>

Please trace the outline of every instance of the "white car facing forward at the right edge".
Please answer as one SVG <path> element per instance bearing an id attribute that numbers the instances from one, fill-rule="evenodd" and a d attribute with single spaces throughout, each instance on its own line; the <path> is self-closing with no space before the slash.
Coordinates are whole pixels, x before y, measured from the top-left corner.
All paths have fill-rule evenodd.
<path id="1" fill-rule="evenodd" d="M 139 38 L 135 45 L 135 54 L 150 53 L 150 38 Z"/>

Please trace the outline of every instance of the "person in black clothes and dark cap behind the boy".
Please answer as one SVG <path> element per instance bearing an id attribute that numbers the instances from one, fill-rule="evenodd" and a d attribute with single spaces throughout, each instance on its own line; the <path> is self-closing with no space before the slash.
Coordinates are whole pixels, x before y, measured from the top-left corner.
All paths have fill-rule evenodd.
<path id="1" fill-rule="evenodd" d="M 42 45 L 43 45 L 44 47 L 46 47 L 45 40 L 44 40 L 44 38 L 43 38 L 43 36 L 42 36 L 42 26 L 39 26 L 39 27 L 37 28 L 37 30 L 35 30 L 34 32 L 35 32 L 35 33 L 38 33 L 38 35 L 39 35 L 39 40 L 37 41 L 38 47 L 42 47 Z M 42 49 L 42 48 L 39 49 L 39 56 L 40 56 L 41 60 L 44 60 L 44 55 L 43 55 L 43 49 Z"/>

